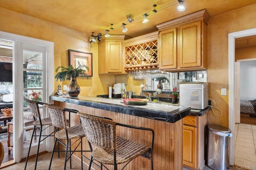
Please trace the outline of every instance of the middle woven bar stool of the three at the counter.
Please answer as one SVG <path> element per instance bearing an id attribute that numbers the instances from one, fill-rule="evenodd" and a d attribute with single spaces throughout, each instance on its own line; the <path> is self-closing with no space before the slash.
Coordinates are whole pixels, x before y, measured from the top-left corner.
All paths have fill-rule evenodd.
<path id="1" fill-rule="evenodd" d="M 65 109 L 62 107 L 57 107 L 57 106 L 48 105 L 48 104 L 44 104 L 44 106 L 48 108 L 50 117 L 52 119 L 52 125 L 54 126 L 55 131 L 56 131 L 55 142 L 54 142 L 54 147 L 52 149 L 52 156 L 51 156 L 51 160 L 50 160 L 49 170 L 51 168 L 54 152 L 65 152 L 64 170 L 66 170 L 66 163 L 69 159 L 70 159 L 70 169 L 71 169 L 72 168 L 72 164 L 71 164 L 72 154 L 74 152 L 81 152 L 81 155 L 82 155 L 82 152 L 83 152 L 82 138 L 85 136 L 85 134 L 84 134 L 82 125 L 68 127 L 65 112 L 70 111 L 70 112 L 76 113 L 78 111 Z M 61 130 L 59 130 L 59 128 L 61 128 Z M 71 143 L 71 139 L 76 139 L 76 141 Z M 66 140 L 66 143 L 64 143 L 62 140 Z M 63 146 L 65 146 L 66 150 L 65 151 L 60 151 L 60 150 L 55 151 L 55 146 L 56 146 L 57 142 L 62 144 Z M 79 144 L 81 144 L 81 150 L 76 150 L 78 148 Z M 75 145 L 74 146 L 75 149 L 71 150 L 71 146 L 73 146 L 73 145 Z M 70 152 L 69 156 L 68 156 L 68 152 Z M 83 159 L 81 158 L 81 167 L 82 167 L 82 165 L 83 165 Z"/>

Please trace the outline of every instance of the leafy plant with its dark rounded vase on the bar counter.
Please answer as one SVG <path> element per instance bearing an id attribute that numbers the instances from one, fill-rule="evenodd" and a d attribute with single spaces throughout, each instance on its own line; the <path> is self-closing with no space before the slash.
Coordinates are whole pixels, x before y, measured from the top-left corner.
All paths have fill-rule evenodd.
<path id="1" fill-rule="evenodd" d="M 61 71 L 58 72 L 58 70 L 61 68 Z M 83 69 L 89 70 L 89 67 L 87 65 L 81 65 L 77 68 L 74 68 L 72 65 L 69 65 L 68 67 L 59 66 L 55 69 L 55 72 L 57 73 L 55 75 L 56 81 L 66 81 L 71 80 L 70 84 L 68 85 L 67 92 L 69 96 L 77 97 L 80 93 L 80 87 L 77 84 L 76 77 L 86 77 L 88 79 L 88 75 L 86 74 L 86 71 Z"/>

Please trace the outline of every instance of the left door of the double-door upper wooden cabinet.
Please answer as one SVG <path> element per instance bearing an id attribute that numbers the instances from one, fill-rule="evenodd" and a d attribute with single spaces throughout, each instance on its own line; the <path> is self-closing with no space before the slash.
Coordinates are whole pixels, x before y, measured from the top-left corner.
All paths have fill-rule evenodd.
<path id="1" fill-rule="evenodd" d="M 177 68 L 177 29 L 161 31 L 158 43 L 159 69 Z"/>

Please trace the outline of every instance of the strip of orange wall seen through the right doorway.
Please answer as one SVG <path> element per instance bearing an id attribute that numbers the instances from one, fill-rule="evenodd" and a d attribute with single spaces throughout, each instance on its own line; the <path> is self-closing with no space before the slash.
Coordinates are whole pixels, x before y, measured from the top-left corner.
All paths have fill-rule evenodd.
<path id="1" fill-rule="evenodd" d="M 256 58 L 256 47 L 246 47 L 235 49 L 235 61 L 237 59 Z"/>

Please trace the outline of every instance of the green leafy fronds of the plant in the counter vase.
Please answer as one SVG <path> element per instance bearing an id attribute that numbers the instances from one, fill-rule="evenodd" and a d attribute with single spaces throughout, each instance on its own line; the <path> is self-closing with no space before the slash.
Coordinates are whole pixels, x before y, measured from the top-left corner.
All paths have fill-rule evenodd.
<path id="1" fill-rule="evenodd" d="M 61 71 L 58 72 L 58 70 L 61 68 Z M 86 74 L 86 71 L 83 69 L 86 68 L 87 70 L 89 70 L 89 67 L 87 65 L 82 65 L 80 67 L 74 68 L 72 65 L 69 65 L 68 67 L 64 67 L 64 66 L 59 66 L 55 69 L 55 72 L 57 73 L 55 75 L 56 81 L 58 81 L 58 79 L 60 81 L 66 81 L 66 80 L 71 80 L 71 78 L 73 77 L 86 77 L 88 79 L 88 75 Z"/>

